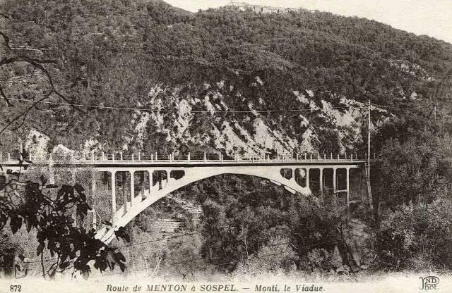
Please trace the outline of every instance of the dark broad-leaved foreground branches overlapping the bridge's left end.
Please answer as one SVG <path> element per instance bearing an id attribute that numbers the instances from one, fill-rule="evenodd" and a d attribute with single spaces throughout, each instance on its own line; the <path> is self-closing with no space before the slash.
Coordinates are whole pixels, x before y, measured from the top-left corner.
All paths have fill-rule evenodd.
<path id="1" fill-rule="evenodd" d="M 73 275 L 78 272 L 83 278 L 88 278 L 90 265 L 100 271 L 114 269 L 116 265 L 125 270 L 124 256 L 96 239 L 94 228 L 74 225 L 71 216 L 74 211 L 78 223 L 81 223 L 90 210 L 81 185 L 62 185 L 58 189 L 57 185 L 47 184 L 44 176 L 40 177 L 40 182 L 20 182 L 19 178 L 20 173 L 17 180 L 7 180 L 5 175 L 0 175 L 0 192 L 3 192 L 0 197 L 0 228 L 4 229 L 9 224 L 13 234 L 22 226 L 28 232 L 37 231 L 36 251 L 37 256 L 41 256 L 44 278 L 54 278 L 56 273 L 70 268 Z M 124 228 L 120 227 L 115 235 L 129 240 Z M 51 259 L 44 259 L 44 249 L 49 251 Z M 49 266 L 46 265 L 48 261 Z"/>

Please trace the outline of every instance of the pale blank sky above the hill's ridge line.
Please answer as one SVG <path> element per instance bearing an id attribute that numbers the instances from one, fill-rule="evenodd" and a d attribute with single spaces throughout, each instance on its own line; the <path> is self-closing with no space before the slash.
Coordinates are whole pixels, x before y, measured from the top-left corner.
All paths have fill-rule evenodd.
<path id="1" fill-rule="evenodd" d="M 230 0 L 164 0 L 188 11 L 215 8 Z M 452 43 L 452 0 L 240 0 L 249 4 L 318 9 L 386 23 L 416 35 Z"/>

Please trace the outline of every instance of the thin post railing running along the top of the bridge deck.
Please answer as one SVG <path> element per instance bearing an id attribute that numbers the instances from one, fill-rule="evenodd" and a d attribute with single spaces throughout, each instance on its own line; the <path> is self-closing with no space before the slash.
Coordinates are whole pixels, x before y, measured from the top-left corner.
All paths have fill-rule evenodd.
<path id="1" fill-rule="evenodd" d="M 375 159 L 375 156 L 373 157 Z M 364 161 L 367 154 L 326 154 L 326 153 L 285 153 L 285 154 L 221 154 L 196 151 L 187 154 L 159 154 L 155 152 L 92 152 L 89 154 L 18 154 L 0 152 L 0 162 L 110 162 L 110 161 L 147 161 L 147 162 L 280 162 L 280 161 Z"/>

